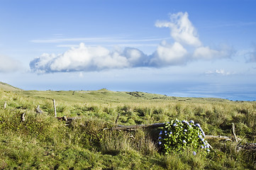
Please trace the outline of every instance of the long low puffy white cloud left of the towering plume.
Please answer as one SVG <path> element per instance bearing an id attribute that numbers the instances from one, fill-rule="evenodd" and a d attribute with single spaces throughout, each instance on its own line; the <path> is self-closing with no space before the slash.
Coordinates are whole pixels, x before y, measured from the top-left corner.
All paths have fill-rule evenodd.
<path id="1" fill-rule="evenodd" d="M 145 56 L 135 48 L 110 51 L 105 47 L 88 47 L 80 43 L 79 47 L 72 47 L 60 55 L 45 53 L 32 60 L 30 68 L 40 73 L 120 69 L 142 65 Z"/>

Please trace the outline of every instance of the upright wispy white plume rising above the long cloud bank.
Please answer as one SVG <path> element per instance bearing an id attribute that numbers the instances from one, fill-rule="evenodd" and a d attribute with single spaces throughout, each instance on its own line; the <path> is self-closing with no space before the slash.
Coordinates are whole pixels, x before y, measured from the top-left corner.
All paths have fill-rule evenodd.
<path id="1" fill-rule="evenodd" d="M 193 45 L 198 47 L 201 45 L 199 35 L 196 33 L 196 29 L 189 21 L 189 14 L 187 12 L 174 13 L 170 16 L 171 22 L 157 21 L 155 26 L 167 27 L 171 29 L 171 36 L 175 41 L 186 45 Z"/>

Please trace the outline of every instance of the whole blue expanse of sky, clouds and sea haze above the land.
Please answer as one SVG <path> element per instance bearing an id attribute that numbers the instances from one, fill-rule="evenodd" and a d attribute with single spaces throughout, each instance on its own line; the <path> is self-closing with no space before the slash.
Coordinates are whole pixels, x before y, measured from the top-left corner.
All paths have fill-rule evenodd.
<path id="1" fill-rule="evenodd" d="M 256 100 L 256 1 L 0 1 L 0 81 Z"/>

